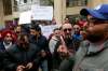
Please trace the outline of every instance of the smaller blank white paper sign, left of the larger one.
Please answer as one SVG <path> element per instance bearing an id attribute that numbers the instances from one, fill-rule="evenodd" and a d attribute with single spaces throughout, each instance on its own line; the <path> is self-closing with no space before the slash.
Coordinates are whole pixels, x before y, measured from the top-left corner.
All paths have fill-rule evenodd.
<path id="1" fill-rule="evenodd" d="M 19 14 L 19 25 L 31 23 L 31 11 L 23 12 Z"/>

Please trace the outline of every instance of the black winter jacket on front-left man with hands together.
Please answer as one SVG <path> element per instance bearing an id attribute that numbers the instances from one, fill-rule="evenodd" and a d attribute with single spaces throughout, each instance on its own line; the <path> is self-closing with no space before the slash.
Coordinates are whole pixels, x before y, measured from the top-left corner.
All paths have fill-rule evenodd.
<path id="1" fill-rule="evenodd" d="M 28 62 L 33 63 L 33 68 L 29 71 L 37 71 L 38 65 L 40 62 L 40 56 L 38 46 L 29 43 L 27 49 L 19 47 L 18 45 L 14 44 L 11 48 L 9 48 L 5 53 L 5 58 L 3 60 L 4 70 L 5 71 L 15 71 L 17 66 L 19 65 L 27 65 Z"/>

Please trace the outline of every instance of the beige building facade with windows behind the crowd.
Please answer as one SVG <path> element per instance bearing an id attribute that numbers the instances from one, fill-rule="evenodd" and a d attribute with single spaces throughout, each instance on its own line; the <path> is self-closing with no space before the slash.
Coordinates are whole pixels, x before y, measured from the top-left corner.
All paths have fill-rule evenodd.
<path id="1" fill-rule="evenodd" d="M 108 3 L 108 0 L 0 0 L 0 27 L 18 19 L 19 13 L 29 10 L 31 4 L 54 6 L 54 18 L 63 24 L 66 17 L 75 17 L 82 8 Z"/>

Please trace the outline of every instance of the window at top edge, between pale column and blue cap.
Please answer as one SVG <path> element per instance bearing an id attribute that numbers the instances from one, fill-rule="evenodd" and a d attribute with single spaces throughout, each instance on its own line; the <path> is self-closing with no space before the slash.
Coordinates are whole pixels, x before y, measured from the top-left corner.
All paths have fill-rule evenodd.
<path id="1" fill-rule="evenodd" d="M 66 0 L 67 6 L 83 6 L 87 4 L 87 0 Z"/>

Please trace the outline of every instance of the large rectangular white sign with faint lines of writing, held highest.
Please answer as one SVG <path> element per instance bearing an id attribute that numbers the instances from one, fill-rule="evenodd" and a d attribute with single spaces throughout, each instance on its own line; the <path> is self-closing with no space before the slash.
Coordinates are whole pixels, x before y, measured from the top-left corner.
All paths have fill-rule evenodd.
<path id="1" fill-rule="evenodd" d="M 53 18 L 53 6 L 31 6 L 32 19 L 36 20 L 52 20 Z"/>

